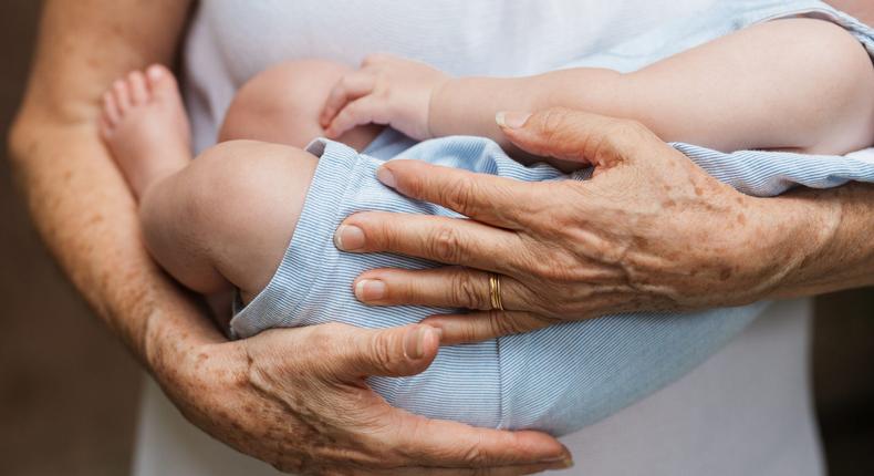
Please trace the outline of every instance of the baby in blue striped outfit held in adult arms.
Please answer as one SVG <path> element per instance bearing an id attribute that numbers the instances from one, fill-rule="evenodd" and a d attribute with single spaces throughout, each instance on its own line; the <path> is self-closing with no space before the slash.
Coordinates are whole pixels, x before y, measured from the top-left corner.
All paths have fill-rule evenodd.
<path id="1" fill-rule="evenodd" d="M 350 284 L 362 271 L 434 265 L 342 253 L 332 244 L 340 221 L 363 209 L 456 216 L 376 180 L 382 161 L 370 153 L 394 155 L 381 152 L 387 134 L 381 125 L 417 141 L 446 137 L 404 151 L 405 158 L 520 180 L 573 178 L 565 175 L 573 167 L 517 162 L 537 158 L 502 141 L 499 111 L 562 105 L 634 118 L 665 141 L 721 151 L 843 154 L 874 143 L 871 58 L 847 31 L 804 18 L 756 24 L 627 74 L 569 69 L 530 77 L 449 77 L 385 55 L 358 70 L 316 60 L 283 63 L 239 90 L 219 144 L 195 161 L 166 69 L 132 72 L 103 101 L 102 135 L 138 199 L 149 251 L 197 292 L 236 291 L 230 328 L 240 338 L 332 321 L 402 325 L 449 311 L 358 303 Z M 449 137 L 455 134 L 478 137 Z M 336 142 L 316 138 L 322 136 Z M 624 365 L 639 364 L 641 376 L 625 400 L 599 394 L 604 382 L 624 375 L 604 362 L 628 359 L 612 355 L 604 342 L 646 335 L 686 349 L 695 340 L 699 352 L 686 349 L 675 361 L 657 362 L 684 372 L 742 329 L 745 319 L 701 312 L 694 319 L 641 314 L 565 324 L 447 346 L 423 374 L 370 383 L 393 405 L 426 416 L 564 434 L 664 384 L 646 380 L 657 372 L 647 372 L 648 358 L 638 352 Z"/>

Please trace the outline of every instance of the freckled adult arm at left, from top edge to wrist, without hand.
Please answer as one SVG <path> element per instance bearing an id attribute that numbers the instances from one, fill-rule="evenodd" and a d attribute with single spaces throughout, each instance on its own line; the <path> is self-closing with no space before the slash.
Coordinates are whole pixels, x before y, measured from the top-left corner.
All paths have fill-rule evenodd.
<path id="1" fill-rule="evenodd" d="M 159 311 L 156 303 L 167 303 L 164 312 L 190 304 L 183 304 L 142 247 L 133 197 L 97 135 L 98 99 L 129 69 L 171 61 L 188 4 L 128 3 L 46 2 L 10 147 L 49 249 L 85 299 L 145 359 L 145 330 Z"/>

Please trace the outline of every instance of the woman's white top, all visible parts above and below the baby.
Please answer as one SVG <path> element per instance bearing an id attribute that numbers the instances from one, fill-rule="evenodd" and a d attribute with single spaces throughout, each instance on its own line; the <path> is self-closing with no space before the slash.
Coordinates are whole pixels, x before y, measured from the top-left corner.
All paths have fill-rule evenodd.
<path id="1" fill-rule="evenodd" d="M 357 64 L 389 52 L 451 74 L 533 74 L 719 1 L 207 0 L 185 50 L 195 146 L 215 142 L 235 90 L 280 61 Z M 685 377 L 564 437 L 576 461 L 566 474 L 823 474 L 808 375 L 811 314 L 808 301 L 774 304 Z M 134 474 L 275 472 L 190 426 L 149 383 Z"/>

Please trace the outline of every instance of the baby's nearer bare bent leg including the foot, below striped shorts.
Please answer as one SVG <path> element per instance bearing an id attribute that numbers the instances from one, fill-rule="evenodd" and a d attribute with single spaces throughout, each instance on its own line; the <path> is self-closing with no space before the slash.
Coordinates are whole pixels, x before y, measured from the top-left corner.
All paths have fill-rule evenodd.
<path id="1" fill-rule="evenodd" d="M 216 294 L 251 298 L 291 239 L 315 169 L 294 147 L 219 144 L 191 161 L 173 75 L 135 72 L 105 97 L 102 133 L 139 200 L 146 246 L 174 278 Z"/>

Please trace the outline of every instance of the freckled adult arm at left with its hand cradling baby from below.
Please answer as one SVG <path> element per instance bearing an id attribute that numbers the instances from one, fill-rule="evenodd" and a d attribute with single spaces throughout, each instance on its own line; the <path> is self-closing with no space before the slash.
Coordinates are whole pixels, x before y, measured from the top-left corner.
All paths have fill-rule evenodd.
<path id="1" fill-rule="evenodd" d="M 281 469 L 523 474 L 565 466 L 566 451 L 547 435 L 428 421 L 370 391 L 367 375 L 428 366 L 438 343 L 430 328 L 327 324 L 227 342 L 199 301 L 153 263 L 95 120 L 115 77 L 173 60 L 188 10 L 178 0 L 45 4 L 10 137 L 13 165 L 43 239 L 97 313 L 188 420 Z"/>

